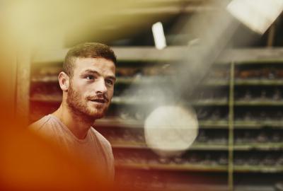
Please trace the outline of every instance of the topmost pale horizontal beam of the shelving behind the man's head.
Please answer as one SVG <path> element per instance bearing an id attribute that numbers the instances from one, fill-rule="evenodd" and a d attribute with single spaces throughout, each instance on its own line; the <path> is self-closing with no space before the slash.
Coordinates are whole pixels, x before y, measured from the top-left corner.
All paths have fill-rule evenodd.
<path id="1" fill-rule="evenodd" d="M 176 61 L 190 57 L 200 48 L 170 46 L 163 50 L 155 47 L 112 47 L 119 61 Z M 68 49 L 40 50 L 33 56 L 34 63 L 63 62 Z M 216 63 L 261 64 L 265 62 L 283 63 L 282 48 L 241 48 L 224 50 Z"/>

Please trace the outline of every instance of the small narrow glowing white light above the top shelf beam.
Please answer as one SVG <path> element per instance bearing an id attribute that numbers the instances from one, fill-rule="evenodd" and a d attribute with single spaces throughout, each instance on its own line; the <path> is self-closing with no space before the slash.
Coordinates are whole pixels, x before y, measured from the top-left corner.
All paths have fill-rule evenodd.
<path id="1" fill-rule="evenodd" d="M 155 47 L 158 50 L 166 47 L 166 38 L 163 31 L 163 25 L 161 22 L 154 23 L 151 27 L 152 33 L 154 34 Z"/>

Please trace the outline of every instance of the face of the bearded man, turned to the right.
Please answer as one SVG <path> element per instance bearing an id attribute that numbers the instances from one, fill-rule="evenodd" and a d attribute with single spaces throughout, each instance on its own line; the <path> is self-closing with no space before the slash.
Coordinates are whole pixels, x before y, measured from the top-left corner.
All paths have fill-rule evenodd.
<path id="1" fill-rule="evenodd" d="M 99 119 L 113 96 L 115 64 L 105 58 L 76 58 L 67 104 L 73 112 Z"/>

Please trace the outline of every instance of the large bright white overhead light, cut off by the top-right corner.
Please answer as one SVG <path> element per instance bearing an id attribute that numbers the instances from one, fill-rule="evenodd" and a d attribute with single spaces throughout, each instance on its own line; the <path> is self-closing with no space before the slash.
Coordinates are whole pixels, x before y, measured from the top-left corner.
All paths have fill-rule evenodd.
<path id="1" fill-rule="evenodd" d="M 256 33 L 263 34 L 283 10 L 282 0 L 233 0 L 227 10 Z"/>

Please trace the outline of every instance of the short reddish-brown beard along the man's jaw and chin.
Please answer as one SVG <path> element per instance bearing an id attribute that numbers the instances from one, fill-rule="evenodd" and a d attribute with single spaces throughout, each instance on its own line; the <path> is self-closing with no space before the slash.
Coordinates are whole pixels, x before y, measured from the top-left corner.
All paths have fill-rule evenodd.
<path id="1" fill-rule="evenodd" d="M 88 120 L 100 119 L 105 115 L 107 108 L 101 108 L 96 110 L 90 110 L 88 108 L 87 102 L 84 102 L 83 96 L 80 93 L 74 90 L 74 88 L 69 86 L 68 96 L 67 96 L 67 105 L 76 116 L 81 116 L 87 118 Z"/>

